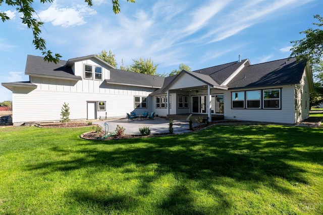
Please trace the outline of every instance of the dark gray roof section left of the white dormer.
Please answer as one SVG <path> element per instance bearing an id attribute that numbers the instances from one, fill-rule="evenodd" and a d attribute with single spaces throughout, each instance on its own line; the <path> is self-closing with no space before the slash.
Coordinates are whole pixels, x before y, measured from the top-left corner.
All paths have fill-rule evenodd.
<path id="1" fill-rule="evenodd" d="M 75 76 L 71 67 L 65 66 L 67 61 L 60 60 L 59 63 L 44 61 L 43 57 L 28 55 L 25 74 L 29 76 L 44 76 L 58 79 L 82 80 Z"/>

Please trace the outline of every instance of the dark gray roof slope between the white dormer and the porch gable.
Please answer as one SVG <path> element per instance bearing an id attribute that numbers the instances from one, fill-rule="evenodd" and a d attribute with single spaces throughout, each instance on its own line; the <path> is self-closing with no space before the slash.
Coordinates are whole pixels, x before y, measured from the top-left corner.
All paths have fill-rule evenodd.
<path id="1" fill-rule="evenodd" d="M 120 69 L 110 70 L 110 79 L 106 79 L 106 83 L 131 85 L 149 88 L 161 88 L 164 84 L 164 77 L 151 76 L 132 71 L 124 71 Z"/>

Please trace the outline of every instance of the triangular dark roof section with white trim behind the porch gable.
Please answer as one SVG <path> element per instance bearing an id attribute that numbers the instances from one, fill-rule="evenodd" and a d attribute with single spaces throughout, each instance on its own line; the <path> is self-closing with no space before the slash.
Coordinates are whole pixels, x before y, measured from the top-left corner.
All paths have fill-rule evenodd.
<path id="1" fill-rule="evenodd" d="M 203 74 L 211 77 L 219 85 L 226 81 L 243 63 L 248 59 L 241 60 L 241 62 L 235 61 L 222 65 L 212 66 L 203 69 L 194 70 L 193 73 Z M 248 63 L 249 65 L 249 63 Z"/>

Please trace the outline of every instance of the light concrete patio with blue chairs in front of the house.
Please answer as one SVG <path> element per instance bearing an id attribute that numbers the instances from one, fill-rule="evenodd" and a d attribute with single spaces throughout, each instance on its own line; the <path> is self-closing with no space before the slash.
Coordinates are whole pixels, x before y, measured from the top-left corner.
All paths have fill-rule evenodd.
<path id="1" fill-rule="evenodd" d="M 117 125 L 126 128 L 125 134 L 140 134 L 140 127 L 149 127 L 151 129 L 151 133 L 167 133 L 169 128 L 169 120 L 164 118 L 155 117 L 154 119 L 118 119 L 118 120 L 100 120 L 94 121 L 94 124 L 98 124 L 104 130 L 104 122 L 109 125 L 109 131 L 116 130 Z M 193 127 L 196 126 L 197 123 L 193 122 Z M 189 124 L 188 121 L 173 121 L 174 133 L 186 133 L 190 132 L 188 130 Z"/>

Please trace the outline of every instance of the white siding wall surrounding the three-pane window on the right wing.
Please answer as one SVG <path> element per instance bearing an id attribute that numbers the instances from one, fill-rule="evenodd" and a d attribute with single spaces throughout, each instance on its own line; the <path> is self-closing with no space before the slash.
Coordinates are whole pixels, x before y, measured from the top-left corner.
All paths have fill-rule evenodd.
<path id="1" fill-rule="evenodd" d="M 231 108 L 231 92 L 278 89 L 281 88 L 281 109 L 232 109 Z M 295 85 L 276 86 L 272 88 L 255 88 L 255 89 L 239 89 L 225 91 L 224 116 L 225 119 L 263 121 L 277 123 L 295 123 L 294 119 L 294 91 Z"/>

